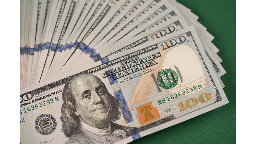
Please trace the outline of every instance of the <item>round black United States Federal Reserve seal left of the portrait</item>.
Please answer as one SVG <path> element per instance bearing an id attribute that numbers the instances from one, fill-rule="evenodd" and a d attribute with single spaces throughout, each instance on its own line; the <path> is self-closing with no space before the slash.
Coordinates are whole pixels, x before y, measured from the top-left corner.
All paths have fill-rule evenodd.
<path id="1" fill-rule="evenodd" d="M 50 114 L 42 114 L 36 119 L 35 127 L 40 134 L 48 135 L 56 129 L 56 120 Z"/>

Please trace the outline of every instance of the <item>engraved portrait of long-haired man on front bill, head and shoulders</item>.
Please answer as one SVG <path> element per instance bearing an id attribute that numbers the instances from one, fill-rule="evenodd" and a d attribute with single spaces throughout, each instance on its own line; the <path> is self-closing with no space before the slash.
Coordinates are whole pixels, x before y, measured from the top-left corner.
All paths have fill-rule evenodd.
<path id="1" fill-rule="evenodd" d="M 121 112 L 117 99 L 105 84 L 91 74 L 70 79 L 63 88 L 62 130 L 66 144 L 115 143 L 131 136 L 134 128 L 114 123 Z"/>

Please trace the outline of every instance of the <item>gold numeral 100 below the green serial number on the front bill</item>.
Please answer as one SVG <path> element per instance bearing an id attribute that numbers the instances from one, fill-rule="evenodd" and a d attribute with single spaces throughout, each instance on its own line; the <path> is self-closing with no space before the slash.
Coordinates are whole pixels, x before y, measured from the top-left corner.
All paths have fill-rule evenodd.
<path id="1" fill-rule="evenodd" d="M 205 96 L 206 100 L 204 99 L 204 96 Z M 195 107 L 198 104 L 198 101 L 200 103 L 205 103 L 205 102 L 209 101 L 211 98 L 212 98 L 212 95 L 210 93 L 204 93 L 204 94 L 201 94 L 197 99 L 196 98 L 188 99 L 187 101 L 185 101 L 184 104 L 183 104 L 183 102 L 181 102 L 177 106 L 180 108 L 179 112 L 182 112 L 182 111 L 186 110 L 187 108 Z M 193 105 L 191 105 L 190 100 L 192 101 Z"/>

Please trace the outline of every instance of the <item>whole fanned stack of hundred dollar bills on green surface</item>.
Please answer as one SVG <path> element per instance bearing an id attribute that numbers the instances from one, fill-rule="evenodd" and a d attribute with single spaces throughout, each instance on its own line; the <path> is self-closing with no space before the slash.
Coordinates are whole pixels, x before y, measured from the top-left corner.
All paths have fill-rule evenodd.
<path id="1" fill-rule="evenodd" d="M 175 0 L 21 0 L 20 143 L 129 143 L 228 103 Z"/>

